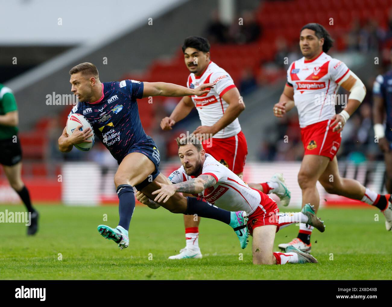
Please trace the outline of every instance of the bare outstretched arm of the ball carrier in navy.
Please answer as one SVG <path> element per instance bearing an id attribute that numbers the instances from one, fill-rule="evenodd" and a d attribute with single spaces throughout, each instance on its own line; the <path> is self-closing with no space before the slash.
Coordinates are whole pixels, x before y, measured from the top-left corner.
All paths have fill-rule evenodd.
<path id="1" fill-rule="evenodd" d="M 165 82 L 143 82 L 143 97 L 149 96 L 168 96 L 168 97 L 181 97 L 181 96 L 200 96 L 209 93 L 207 88 L 214 87 L 213 83 L 201 84 L 196 89 L 189 89 L 188 87 L 165 83 Z"/>

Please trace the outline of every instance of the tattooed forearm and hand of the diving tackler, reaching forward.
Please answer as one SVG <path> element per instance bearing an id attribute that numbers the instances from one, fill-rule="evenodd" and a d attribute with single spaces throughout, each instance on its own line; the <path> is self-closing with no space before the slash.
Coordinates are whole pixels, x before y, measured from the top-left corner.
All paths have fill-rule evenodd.
<path id="1" fill-rule="evenodd" d="M 154 202 L 167 202 L 167 200 L 176 192 L 183 192 L 188 194 L 198 194 L 207 187 L 212 187 L 216 184 L 216 179 L 211 175 L 201 174 L 197 178 L 192 178 L 184 182 L 176 184 L 162 184 L 159 190 L 152 192 L 153 195 L 158 194 Z"/>

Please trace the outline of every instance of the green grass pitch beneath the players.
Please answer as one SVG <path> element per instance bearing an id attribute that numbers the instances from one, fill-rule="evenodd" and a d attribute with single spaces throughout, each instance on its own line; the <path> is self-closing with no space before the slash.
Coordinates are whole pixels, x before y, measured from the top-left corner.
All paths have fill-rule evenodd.
<path id="1" fill-rule="evenodd" d="M 242 250 L 232 229 L 214 220 L 201 220 L 203 259 L 168 260 L 185 246 L 181 214 L 137 206 L 130 245 L 120 251 L 97 231 L 99 224 L 117 225 L 118 207 L 36 207 L 40 229 L 34 237 L 26 236 L 24 224 L 0 223 L 0 279 L 392 279 L 392 233 L 385 230 L 382 213 L 372 208 L 321 209 L 326 231 L 312 235 L 312 254 L 319 263 L 267 266 L 253 265 L 251 245 Z M 23 211 L 21 205 L 0 206 L 5 209 Z M 297 233 L 296 225 L 279 231 L 274 250 Z"/>

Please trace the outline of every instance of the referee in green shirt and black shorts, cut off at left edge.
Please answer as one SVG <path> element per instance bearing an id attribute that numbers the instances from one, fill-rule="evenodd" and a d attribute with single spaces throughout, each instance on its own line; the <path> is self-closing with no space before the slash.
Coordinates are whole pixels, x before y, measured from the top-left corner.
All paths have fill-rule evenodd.
<path id="1" fill-rule="evenodd" d="M 30 201 L 29 190 L 22 181 L 22 149 L 18 139 L 18 107 L 11 89 L 0 84 L 0 164 L 11 187 L 19 194 L 28 212 L 31 225 L 27 234 L 38 230 L 38 212 Z"/>

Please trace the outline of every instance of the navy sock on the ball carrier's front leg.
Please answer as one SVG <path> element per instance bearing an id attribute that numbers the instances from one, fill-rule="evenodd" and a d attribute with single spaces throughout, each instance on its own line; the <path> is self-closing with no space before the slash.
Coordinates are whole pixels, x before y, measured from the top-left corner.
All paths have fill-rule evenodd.
<path id="1" fill-rule="evenodd" d="M 132 185 L 120 184 L 117 187 L 117 196 L 119 199 L 118 214 L 120 215 L 118 225 L 128 230 L 135 209 L 135 193 Z"/>

